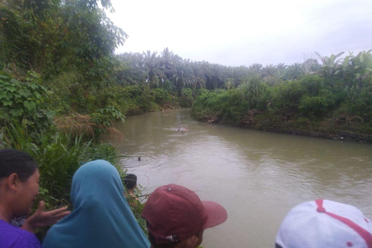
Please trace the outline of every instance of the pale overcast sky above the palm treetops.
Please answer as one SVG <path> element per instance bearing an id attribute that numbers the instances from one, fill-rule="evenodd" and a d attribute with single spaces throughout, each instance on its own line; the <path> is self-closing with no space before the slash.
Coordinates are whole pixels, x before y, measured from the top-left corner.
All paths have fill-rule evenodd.
<path id="1" fill-rule="evenodd" d="M 222 65 L 303 62 L 372 49 L 372 0 L 111 0 L 129 38 L 116 53 L 165 47 Z"/>

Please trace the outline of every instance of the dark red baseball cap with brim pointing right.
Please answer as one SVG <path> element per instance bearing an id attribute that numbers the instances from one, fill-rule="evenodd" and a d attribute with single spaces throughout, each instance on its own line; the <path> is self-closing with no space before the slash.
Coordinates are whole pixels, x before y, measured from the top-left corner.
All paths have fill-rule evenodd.
<path id="1" fill-rule="evenodd" d="M 142 218 L 157 244 L 181 241 L 227 220 L 220 204 L 201 201 L 198 195 L 177 184 L 158 187 L 151 193 Z"/>

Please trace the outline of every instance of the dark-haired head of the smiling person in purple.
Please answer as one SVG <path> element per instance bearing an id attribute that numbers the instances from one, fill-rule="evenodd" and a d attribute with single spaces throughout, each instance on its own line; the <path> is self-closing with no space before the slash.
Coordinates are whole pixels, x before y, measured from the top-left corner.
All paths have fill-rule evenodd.
<path id="1" fill-rule="evenodd" d="M 10 222 L 31 213 L 39 193 L 39 170 L 34 158 L 15 149 L 0 149 L 0 209 Z"/>

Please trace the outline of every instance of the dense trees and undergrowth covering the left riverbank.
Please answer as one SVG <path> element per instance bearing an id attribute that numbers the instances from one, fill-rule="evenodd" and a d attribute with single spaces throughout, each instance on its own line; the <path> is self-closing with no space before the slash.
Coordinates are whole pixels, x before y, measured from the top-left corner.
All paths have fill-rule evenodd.
<path id="1" fill-rule="evenodd" d="M 142 85 L 116 83 L 124 67 L 113 51 L 128 35 L 99 3 L 113 11 L 110 0 L 0 1 L 0 149 L 20 149 L 37 160 L 38 199 L 48 209 L 71 205 L 71 180 L 81 164 L 117 163 L 115 149 L 101 144 L 100 135 L 121 138 L 112 122 L 124 122 L 129 109 L 155 99 Z M 135 205 L 144 228 L 143 205 Z"/>

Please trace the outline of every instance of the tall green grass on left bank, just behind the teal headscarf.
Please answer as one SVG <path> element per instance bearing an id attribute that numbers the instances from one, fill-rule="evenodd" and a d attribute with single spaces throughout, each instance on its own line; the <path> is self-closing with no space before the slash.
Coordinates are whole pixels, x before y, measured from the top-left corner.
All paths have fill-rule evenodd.
<path id="1" fill-rule="evenodd" d="M 0 148 L 13 148 L 28 152 L 38 162 L 40 200 L 47 207 L 60 207 L 70 203 L 70 187 L 75 171 L 85 162 L 103 159 L 115 164 L 115 149 L 108 144 L 84 142 L 82 136 L 71 139 L 53 128 L 32 132 L 13 122 L 0 132 Z"/>

